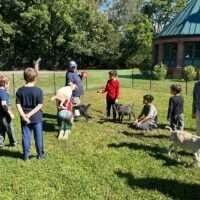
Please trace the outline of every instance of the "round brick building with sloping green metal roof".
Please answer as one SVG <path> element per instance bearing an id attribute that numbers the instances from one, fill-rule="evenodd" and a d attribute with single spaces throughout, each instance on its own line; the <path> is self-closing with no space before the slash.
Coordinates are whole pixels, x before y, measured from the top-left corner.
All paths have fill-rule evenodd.
<path id="1" fill-rule="evenodd" d="M 154 38 L 153 65 L 161 62 L 174 76 L 185 66 L 200 67 L 200 0 L 190 0 Z"/>

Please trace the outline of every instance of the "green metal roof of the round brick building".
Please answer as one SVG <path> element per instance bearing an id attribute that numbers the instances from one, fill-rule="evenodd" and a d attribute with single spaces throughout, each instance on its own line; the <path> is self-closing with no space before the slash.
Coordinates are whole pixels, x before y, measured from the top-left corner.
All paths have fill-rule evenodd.
<path id="1" fill-rule="evenodd" d="M 191 0 L 156 38 L 191 35 L 200 35 L 200 0 Z"/>

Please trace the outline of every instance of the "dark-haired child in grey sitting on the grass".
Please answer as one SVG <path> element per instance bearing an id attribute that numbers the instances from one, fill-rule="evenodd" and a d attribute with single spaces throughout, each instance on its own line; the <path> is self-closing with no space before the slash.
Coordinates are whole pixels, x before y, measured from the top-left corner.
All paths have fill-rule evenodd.
<path id="1" fill-rule="evenodd" d="M 152 104 L 153 99 L 154 97 L 152 95 L 144 95 L 144 107 L 142 109 L 142 112 L 133 122 L 133 126 L 135 128 L 141 130 L 152 130 L 153 128 L 157 127 L 157 110 L 156 107 Z"/>

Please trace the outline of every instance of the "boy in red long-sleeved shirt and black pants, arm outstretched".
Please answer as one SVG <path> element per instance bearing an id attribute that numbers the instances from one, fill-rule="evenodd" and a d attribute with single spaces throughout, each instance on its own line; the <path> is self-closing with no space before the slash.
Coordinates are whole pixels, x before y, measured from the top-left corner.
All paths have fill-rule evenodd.
<path id="1" fill-rule="evenodd" d="M 106 103 L 107 103 L 107 120 L 110 117 L 110 109 L 112 106 L 113 109 L 113 120 L 116 119 L 116 109 L 114 105 L 118 103 L 119 98 L 119 91 L 120 91 L 120 83 L 117 80 L 117 71 L 112 70 L 109 72 L 109 80 L 107 81 L 106 88 L 103 90 L 98 90 L 98 93 L 106 93 Z"/>

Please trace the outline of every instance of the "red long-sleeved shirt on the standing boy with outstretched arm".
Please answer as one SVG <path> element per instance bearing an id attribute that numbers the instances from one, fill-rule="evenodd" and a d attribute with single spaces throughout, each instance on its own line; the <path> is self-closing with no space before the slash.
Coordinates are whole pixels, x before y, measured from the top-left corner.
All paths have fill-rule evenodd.
<path id="1" fill-rule="evenodd" d="M 119 98 L 120 84 L 118 80 L 108 80 L 106 88 L 102 90 L 102 93 L 107 92 L 107 99 L 118 99 Z"/>

